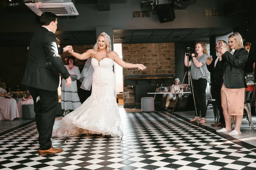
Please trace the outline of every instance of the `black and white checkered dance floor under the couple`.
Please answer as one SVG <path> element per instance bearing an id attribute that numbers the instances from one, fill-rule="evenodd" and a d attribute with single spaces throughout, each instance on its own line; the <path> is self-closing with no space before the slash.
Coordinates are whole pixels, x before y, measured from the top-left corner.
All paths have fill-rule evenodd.
<path id="1" fill-rule="evenodd" d="M 121 114 L 123 137 L 54 138 L 63 148 L 38 156 L 35 123 L 0 137 L 0 169 L 256 169 L 256 153 L 167 112 Z M 55 127 L 61 124 L 56 118 Z"/>

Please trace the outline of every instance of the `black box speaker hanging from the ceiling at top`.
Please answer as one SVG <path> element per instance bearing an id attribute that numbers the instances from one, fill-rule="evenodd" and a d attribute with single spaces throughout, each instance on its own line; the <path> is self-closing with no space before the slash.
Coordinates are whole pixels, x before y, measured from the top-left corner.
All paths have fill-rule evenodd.
<path id="1" fill-rule="evenodd" d="M 160 23 L 170 22 L 175 19 L 173 4 L 161 5 L 162 9 L 157 10 Z"/>

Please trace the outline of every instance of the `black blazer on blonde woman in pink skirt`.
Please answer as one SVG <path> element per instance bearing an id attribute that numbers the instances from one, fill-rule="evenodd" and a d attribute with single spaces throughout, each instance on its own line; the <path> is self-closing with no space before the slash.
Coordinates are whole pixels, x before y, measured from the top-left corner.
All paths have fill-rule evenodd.
<path id="1" fill-rule="evenodd" d="M 245 64 L 248 58 L 248 51 L 245 48 L 235 50 L 232 55 L 226 51 L 222 56 L 223 82 L 226 88 L 246 88 Z"/>

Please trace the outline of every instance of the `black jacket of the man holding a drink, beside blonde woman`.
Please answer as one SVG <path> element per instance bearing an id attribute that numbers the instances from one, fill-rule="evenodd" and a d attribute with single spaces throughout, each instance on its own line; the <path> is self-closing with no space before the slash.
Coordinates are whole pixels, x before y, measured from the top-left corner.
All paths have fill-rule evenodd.
<path id="1" fill-rule="evenodd" d="M 218 60 L 216 66 L 214 67 L 215 61 L 211 62 L 210 65 L 206 65 L 208 71 L 213 75 L 213 83 L 221 87 L 222 84 L 222 64 Z"/>

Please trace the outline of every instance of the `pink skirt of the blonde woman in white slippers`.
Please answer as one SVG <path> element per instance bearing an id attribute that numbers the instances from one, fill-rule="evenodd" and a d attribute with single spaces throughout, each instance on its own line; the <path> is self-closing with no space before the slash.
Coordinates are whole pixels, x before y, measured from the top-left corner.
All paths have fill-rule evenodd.
<path id="1" fill-rule="evenodd" d="M 226 88 L 225 84 L 221 87 L 221 105 L 223 111 L 228 110 L 230 115 L 243 115 L 245 103 L 245 88 Z"/>

